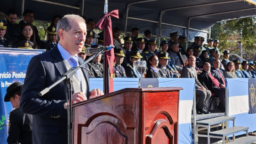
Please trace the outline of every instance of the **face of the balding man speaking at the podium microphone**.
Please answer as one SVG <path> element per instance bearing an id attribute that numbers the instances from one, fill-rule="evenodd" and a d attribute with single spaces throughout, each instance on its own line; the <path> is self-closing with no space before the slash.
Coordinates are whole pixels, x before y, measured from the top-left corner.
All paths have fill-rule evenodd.
<path id="1" fill-rule="evenodd" d="M 71 20 L 69 21 L 71 29 L 66 32 L 59 29 L 59 43 L 71 55 L 75 55 L 82 51 L 86 37 L 86 25 L 84 21 Z"/>

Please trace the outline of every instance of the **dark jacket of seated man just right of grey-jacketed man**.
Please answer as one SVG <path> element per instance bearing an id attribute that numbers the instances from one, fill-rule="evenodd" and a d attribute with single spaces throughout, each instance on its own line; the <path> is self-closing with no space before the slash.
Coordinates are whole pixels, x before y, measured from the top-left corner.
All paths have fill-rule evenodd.
<path id="1" fill-rule="evenodd" d="M 212 73 L 212 75 L 214 77 L 213 73 Z M 211 77 L 209 76 L 209 74 L 205 70 L 203 70 L 202 73 L 198 76 L 198 80 L 206 90 L 212 91 L 212 89 L 213 89 L 213 80 L 211 79 Z"/>

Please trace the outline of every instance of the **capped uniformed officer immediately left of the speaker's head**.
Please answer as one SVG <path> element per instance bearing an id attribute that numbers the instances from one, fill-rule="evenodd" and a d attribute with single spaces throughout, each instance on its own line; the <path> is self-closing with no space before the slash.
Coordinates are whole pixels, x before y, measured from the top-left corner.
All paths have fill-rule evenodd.
<path id="1" fill-rule="evenodd" d="M 57 32 L 56 27 L 50 26 L 47 28 L 48 31 L 48 41 L 44 41 L 44 43 L 41 44 L 41 49 L 51 50 L 53 47 L 55 47 L 57 43 Z"/>

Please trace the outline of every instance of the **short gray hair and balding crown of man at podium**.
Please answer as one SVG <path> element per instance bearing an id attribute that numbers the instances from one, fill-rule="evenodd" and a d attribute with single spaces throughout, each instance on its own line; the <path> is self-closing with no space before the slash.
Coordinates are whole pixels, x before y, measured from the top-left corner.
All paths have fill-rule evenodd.
<path id="1" fill-rule="evenodd" d="M 70 22 L 74 20 L 74 21 L 83 21 L 85 22 L 84 18 L 82 18 L 81 16 L 78 15 L 65 15 L 63 16 L 63 18 L 58 21 L 57 23 L 57 36 L 58 36 L 58 40 L 59 40 L 59 29 L 63 29 L 65 32 L 68 32 L 72 26 L 70 24 Z"/>

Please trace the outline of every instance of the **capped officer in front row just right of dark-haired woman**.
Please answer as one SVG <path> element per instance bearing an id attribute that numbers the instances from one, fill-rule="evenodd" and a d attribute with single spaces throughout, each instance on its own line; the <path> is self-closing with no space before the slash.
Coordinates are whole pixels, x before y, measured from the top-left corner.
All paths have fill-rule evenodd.
<path id="1" fill-rule="evenodd" d="M 158 55 L 159 64 L 157 66 L 157 69 L 159 69 L 159 75 L 161 78 L 173 78 L 173 73 L 166 68 L 166 65 L 168 64 L 168 53 L 160 53 Z"/>

